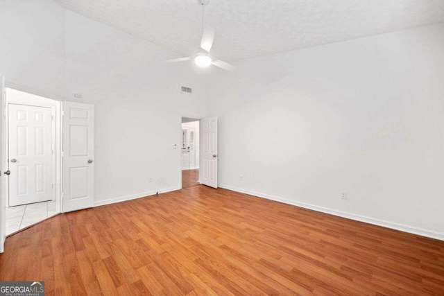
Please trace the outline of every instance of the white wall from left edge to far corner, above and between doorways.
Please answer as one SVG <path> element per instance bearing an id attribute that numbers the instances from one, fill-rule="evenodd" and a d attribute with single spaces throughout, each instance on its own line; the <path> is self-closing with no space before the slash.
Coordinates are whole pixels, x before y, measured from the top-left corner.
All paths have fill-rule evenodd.
<path id="1" fill-rule="evenodd" d="M 181 114 L 205 115 L 205 75 L 189 63 L 163 64 L 177 56 L 51 0 L 0 5 L 0 27 L 8 28 L 0 75 L 9 85 L 95 105 L 96 203 L 180 188 L 173 146 Z"/>

